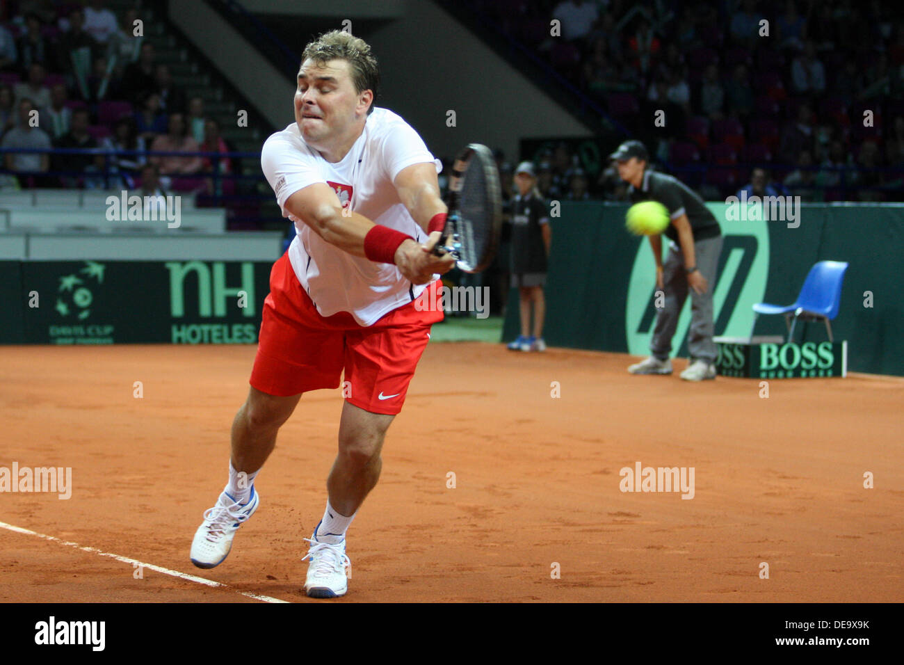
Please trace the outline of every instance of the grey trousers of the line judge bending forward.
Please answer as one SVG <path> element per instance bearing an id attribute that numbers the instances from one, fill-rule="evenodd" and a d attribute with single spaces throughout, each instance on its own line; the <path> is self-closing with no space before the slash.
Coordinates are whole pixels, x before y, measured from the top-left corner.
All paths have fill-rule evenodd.
<path id="1" fill-rule="evenodd" d="M 722 236 L 693 243 L 697 268 L 708 282 L 706 293 L 698 294 L 687 283 L 684 271 L 684 254 L 675 242 L 669 242 L 669 252 L 663 264 L 665 303 L 656 314 L 656 325 L 650 351 L 660 359 L 672 352 L 672 337 L 678 327 L 678 317 L 684 307 L 688 292 L 691 294 L 691 329 L 687 347 L 692 360 L 716 362 L 716 345 L 712 341 L 715 323 L 712 318 L 712 291 L 716 286 L 716 268 L 722 251 Z"/>

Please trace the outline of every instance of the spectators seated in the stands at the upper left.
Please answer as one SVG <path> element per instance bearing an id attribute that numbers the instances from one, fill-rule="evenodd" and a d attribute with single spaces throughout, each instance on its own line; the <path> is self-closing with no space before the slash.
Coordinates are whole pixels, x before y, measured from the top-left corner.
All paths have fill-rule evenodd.
<path id="1" fill-rule="evenodd" d="M 10 5 L 18 11 L 5 15 Z M 230 173 L 228 158 L 135 154 L 231 147 L 202 98 L 187 99 L 157 61 L 137 10 L 118 17 L 104 5 L 0 3 L 0 147 L 96 151 L 5 153 L 0 187 L 137 189 L 155 172 L 154 187 L 212 194 L 205 176 Z"/>

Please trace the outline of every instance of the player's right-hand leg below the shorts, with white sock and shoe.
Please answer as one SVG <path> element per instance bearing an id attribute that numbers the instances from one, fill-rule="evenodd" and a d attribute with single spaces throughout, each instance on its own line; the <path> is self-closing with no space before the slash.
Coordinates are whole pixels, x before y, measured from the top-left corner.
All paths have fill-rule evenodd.
<path id="1" fill-rule="evenodd" d="M 305 590 L 315 598 L 335 598 L 348 589 L 351 561 L 345 531 L 364 498 L 380 479 L 383 439 L 395 416 L 371 413 L 346 402 L 339 423 L 339 453 L 326 480 L 329 499 L 314 529 L 306 559 Z"/>

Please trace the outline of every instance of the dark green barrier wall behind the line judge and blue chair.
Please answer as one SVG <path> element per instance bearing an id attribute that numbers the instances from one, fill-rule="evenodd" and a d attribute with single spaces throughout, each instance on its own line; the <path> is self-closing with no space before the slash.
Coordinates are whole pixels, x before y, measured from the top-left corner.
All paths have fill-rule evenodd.
<path id="1" fill-rule="evenodd" d="M 848 261 L 836 340 L 849 342 L 852 372 L 904 375 L 904 206 L 804 204 L 796 219 L 759 219 L 708 204 L 725 236 L 714 288 L 716 335 L 747 337 L 752 305 L 795 301 L 816 261 Z M 547 344 L 646 355 L 653 331 L 654 261 L 649 242 L 625 230 L 626 205 L 561 202 L 552 222 L 546 287 Z M 761 208 L 760 208 L 761 210 Z M 729 216 L 727 216 L 727 214 Z M 744 218 L 746 216 L 746 219 Z M 741 217 L 736 219 L 734 217 Z M 789 227 L 790 224 L 790 227 Z M 673 343 L 687 356 L 690 299 Z M 504 340 L 519 332 L 517 292 L 509 294 Z M 760 317 L 758 335 L 785 335 L 782 317 Z M 798 324 L 797 341 L 827 338 L 823 323 Z"/>

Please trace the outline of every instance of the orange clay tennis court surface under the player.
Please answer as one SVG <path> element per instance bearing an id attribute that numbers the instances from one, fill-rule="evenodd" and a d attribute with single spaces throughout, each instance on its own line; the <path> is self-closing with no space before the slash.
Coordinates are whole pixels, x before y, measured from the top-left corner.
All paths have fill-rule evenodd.
<path id="1" fill-rule="evenodd" d="M 189 546 L 225 483 L 254 353 L 0 349 L 0 466 L 71 467 L 73 486 L 69 500 L 0 494 L 5 525 L 58 539 L 0 528 L 0 601 L 904 598 L 904 380 L 776 380 L 762 399 L 756 380 L 686 385 L 683 363 L 632 376 L 624 355 L 481 343 L 427 348 L 349 530 L 346 596 L 302 588 L 338 389 L 302 398 L 257 480 L 261 508 L 229 558 L 200 570 Z M 637 461 L 694 467 L 693 499 L 620 491 L 619 470 Z M 137 578 L 135 562 L 158 567 Z"/>

